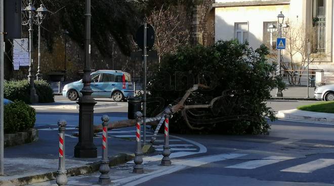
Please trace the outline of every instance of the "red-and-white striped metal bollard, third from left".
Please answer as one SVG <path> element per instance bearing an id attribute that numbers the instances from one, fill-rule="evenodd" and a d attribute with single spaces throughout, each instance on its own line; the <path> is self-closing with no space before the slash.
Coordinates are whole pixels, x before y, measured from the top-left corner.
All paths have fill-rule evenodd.
<path id="1" fill-rule="evenodd" d="M 134 166 L 134 173 L 144 173 L 143 169 L 143 152 L 142 152 L 142 145 L 141 145 L 141 136 L 140 136 L 140 121 L 142 120 L 143 114 L 141 112 L 136 112 L 136 151 L 135 151 L 135 166 Z"/>

